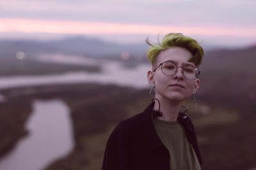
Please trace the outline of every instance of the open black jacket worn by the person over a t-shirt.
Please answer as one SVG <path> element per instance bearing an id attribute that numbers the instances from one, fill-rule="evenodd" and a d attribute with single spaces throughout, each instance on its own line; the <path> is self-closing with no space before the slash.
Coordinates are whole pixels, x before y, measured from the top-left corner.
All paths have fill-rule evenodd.
<path id="1" fill-rule="evenodd" d="M 169 151 L 159 139 L 152 123 L 153 107 L 154 102 L 145 111 L 116 126 L 108 139 L 102 170 L 170 170 Z M 202 164 L 191 120 L 185 114 L 179 114 L 178 119 Z"/>

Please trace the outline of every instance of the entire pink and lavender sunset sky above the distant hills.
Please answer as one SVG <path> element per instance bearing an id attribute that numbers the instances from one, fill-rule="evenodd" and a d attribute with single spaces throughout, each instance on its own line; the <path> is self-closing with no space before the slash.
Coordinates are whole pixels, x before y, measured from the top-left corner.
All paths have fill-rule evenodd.
<path id="1" fill-rule="evenodd" d="M 0 38 L 142 43 L 181 32 L 202 43 L 246 46 L 256 43 L 255 9 L 255 0 L 0 1 Z"/>

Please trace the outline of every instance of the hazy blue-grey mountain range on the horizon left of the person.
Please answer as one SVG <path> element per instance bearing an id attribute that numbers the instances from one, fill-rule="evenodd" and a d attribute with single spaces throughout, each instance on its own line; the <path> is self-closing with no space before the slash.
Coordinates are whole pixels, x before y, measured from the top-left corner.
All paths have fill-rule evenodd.
<path id="1" fill-rule="evenodd" d="M 0 54 L 3 52 L 5 54 L 15 54 L 17 51 L 23 51 L 29 56 L 35 56 L 35 54 L 62 53 L 92 58 L 113 58 L 113 56 L 120 56 L 124 51 L 134 56 L 144 54 L 145 50 L 147 50 L 145 43 L 121 45 L 81 37 L 45 42 L 36 40 L 0 41 Z M 3 58 L 3 55 L 0 58 Z"/>

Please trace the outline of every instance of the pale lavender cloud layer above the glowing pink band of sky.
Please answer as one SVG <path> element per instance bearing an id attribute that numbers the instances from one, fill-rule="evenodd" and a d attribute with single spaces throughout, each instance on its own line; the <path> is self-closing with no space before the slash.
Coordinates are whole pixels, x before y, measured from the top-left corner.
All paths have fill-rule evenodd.
<path id="1" fill-rule="evenodd" d="M 253 26 L 256 1 L 97 0 L 1 1 L 2 17 L 137 24 Z"/>

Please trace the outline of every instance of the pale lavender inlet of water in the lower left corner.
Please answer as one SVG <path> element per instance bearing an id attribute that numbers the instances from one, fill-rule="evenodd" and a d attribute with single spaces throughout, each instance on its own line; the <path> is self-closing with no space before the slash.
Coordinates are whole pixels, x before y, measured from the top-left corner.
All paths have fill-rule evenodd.
<path id="1" fill-rule="evenodd" d="M 61 100 L 36 100 L 26 122 L 29 135 L 0 161 L 0 170 L 40 170 L 74 147 L 70 109 Z"/>

